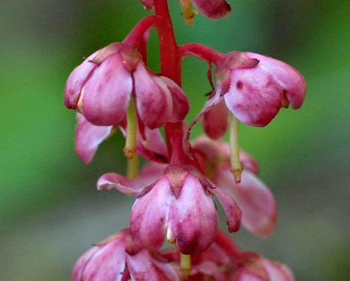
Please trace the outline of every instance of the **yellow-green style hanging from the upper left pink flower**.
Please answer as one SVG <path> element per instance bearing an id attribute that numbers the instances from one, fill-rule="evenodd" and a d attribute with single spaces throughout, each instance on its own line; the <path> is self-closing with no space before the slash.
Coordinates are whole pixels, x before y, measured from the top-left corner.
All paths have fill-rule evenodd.
<path id="1" fill-rule="evenodd" d="M 127 131 L 126 142 L 123 149 L 124 156 L 128 159 L 132 159 L 135 154 L 136 135 L 137 135 L 137 117 L 135 102 L 131 98 L 128 110 L 126 111 Z"/>

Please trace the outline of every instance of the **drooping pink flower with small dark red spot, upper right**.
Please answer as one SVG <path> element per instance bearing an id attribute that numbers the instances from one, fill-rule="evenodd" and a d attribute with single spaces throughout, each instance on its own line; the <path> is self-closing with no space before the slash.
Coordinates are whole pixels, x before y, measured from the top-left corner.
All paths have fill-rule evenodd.
<path id="1" fill-rule="evenodd" d="M 228 53 L 217 67 L 216 79 L 217 95 L 224 96 L 236 118 L 251 126 L 266 126 L 289 104 L 298 109 L 306 93 L 305 80 L 295 68 L 253 53 Z"/>

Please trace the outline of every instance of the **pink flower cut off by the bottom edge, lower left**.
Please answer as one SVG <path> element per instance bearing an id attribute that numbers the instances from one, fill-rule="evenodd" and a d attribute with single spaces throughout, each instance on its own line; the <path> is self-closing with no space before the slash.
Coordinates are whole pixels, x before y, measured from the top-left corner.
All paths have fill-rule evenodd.
<path id="1" fill-rule="evenodd" d="M 136 246 L 129 229 L 96 244 L 77 261 L 73 281 L 81 280 L 178 280 L 168 260 Z"/>

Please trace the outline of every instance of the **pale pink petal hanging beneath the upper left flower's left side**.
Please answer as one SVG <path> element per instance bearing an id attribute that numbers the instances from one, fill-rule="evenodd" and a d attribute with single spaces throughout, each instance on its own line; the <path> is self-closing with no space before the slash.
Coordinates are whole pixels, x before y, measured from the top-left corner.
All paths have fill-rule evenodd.
<path id="1" fill-rule="evenodd" d="M 77 119 L 75 150 L 78 157 L 83 162 L 88 163 L 94 157 L 99 145 L 110 135 L 113 127 L 91 124 L 79 113 L 77 114 Z"/>

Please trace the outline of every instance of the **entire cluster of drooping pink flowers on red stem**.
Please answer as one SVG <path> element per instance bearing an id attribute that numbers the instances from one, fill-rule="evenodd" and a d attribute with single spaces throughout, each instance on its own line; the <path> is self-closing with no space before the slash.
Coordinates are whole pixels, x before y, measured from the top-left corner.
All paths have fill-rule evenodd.
<path id="1" fill-rule="evenodd" d="M 129 227 L 86 252 L 72 279 L 293 280 L 288 267 L 241 251 L 220 232 L 216 200 L 226 213 L 229 232 L 242 224 L 253 235 L 271 235 L 276 203 L 258 178 L 258 163 L 239 147 L 238 125 L 266 126 L 281 107 L 299 108 L 306 92 L 304 78 L 266 56 L 222 54 L 195 43 L 178 46 L 167 1 L 141 2 L 155 15 L 139 21 L 123 42 L 85 59 L 64 89 L 65 106 L 77 111 L 75 146 L 81 160 L 90 162 L 103 140 L 118 129 L 126 138 L 127 176 L 106 173 L 97 182 L 98 190 L 116 189 L 135 197 Z M 223 0 L 179 3 L 186 22 L 196 14 L 192 5 L 211 19 L 230 13 Z M 152 28 L 161 38 L 160 74 L 146 63 Z M 181 88 L 181 60 L 188 55 L 208 63 L 213 91 L 186 125 L 190 103 Z M 206 136 L 191 140 L 190 130 L 199 120 Z M 138 156 L 148 161 L 140 171 Z M 165 241 L 173 250 L 161 250 Z"/>

